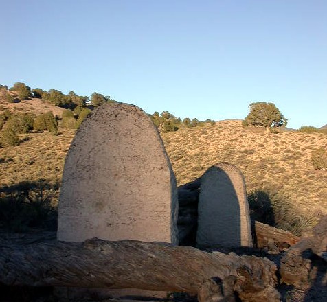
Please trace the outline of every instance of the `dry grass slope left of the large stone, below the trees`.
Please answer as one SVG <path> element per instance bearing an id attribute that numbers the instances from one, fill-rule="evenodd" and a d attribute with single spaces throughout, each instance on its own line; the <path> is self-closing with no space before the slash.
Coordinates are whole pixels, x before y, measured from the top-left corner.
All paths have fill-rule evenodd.
<path id="1" fill-rule="evenodd" d="M 74 135 L 74 130 L 65 129 L 60 129 L 58 135 L 30 133 L 21 145 L 0 148 L 0 186 L 39 179 L 50 184 L 60 182 Z"/>

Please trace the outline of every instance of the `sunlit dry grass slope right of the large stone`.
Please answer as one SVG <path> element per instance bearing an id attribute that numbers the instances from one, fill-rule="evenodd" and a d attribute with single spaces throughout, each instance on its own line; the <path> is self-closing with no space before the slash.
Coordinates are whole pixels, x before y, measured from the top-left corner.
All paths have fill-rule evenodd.
<path id="1" fill-rule="evenodd" d="M 327 212 L 327 172 L 313 168 L 311 152 L 327 146 L 327 135 L 267 134 L 263 128 L 219 121 L 162 135 L 179 185 L 201 176 L 217 162 L 229 162 L 245 175 L 247 190 L 273 189 L 303 211 Z"/>

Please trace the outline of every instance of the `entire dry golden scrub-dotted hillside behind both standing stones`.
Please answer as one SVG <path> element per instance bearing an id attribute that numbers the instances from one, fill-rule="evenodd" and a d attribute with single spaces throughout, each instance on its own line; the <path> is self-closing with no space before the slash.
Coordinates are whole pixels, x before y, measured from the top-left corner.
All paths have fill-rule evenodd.
<path id="1" fill-rule="evenodd" d="M 4 102 L 0 109 L 5 108 L 12 113 L 27 109 L 35 114 L 53 111 L 59 116 L 63 111 L 37 99 Z M 52 196 L 58 197 L 65 154 L 74 133 L 75 130 L 66 128 L 59 128 L 58 135 L 29 133 L 21 135 L 24 141 L 19 146 L 0 148 L 0 187 L 43 179 L 44 185 L 52 187 Z M 178 185 L 193 181 L 215 163 L 229 162 L 243 172 L 249 194 L 262 192 L 275 206 L 291 204 L 294 211 L 314 217 L 327 213 L 327 172 L 315 170 L 311 163 L 311 152 L 327 146 L 326 134 L 295 131 L 267 134 L 264 128 L 227 120 L 214 126 L 163 133 L 161 137 Z"/>

